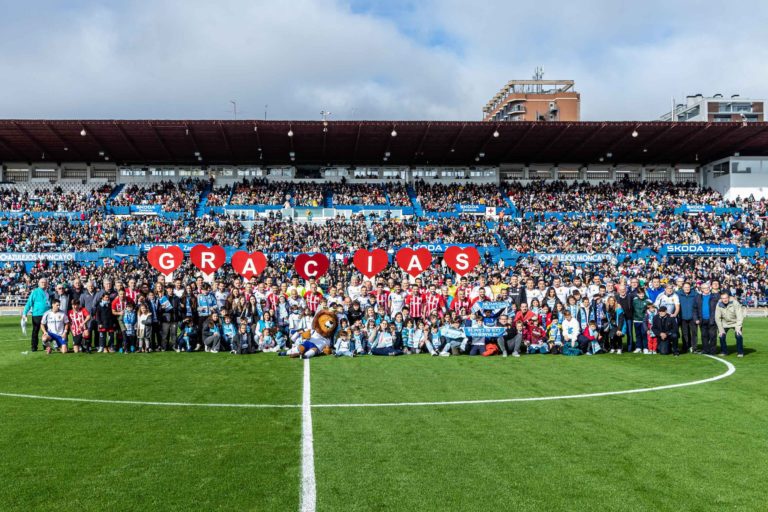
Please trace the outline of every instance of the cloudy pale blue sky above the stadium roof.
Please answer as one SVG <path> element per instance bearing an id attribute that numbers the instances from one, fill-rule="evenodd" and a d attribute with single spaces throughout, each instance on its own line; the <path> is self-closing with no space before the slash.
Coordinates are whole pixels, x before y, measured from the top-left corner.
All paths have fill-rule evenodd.
<path id="1" fill-rule="evenodd" d="M 0 0 L 1 118 L 469 119 L 573 79 L 584 120 L 768 97 L 768 2 Z"/>

